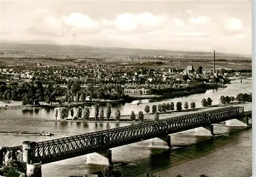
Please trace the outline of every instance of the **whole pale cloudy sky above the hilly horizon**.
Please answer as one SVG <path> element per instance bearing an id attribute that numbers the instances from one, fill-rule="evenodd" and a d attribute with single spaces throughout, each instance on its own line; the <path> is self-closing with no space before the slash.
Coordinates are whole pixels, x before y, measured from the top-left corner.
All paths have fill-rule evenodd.
<path id="1" fill-rule="evenodd" d="M 251 54 L 251 2 L 2 1 L 0 40 Z"/>

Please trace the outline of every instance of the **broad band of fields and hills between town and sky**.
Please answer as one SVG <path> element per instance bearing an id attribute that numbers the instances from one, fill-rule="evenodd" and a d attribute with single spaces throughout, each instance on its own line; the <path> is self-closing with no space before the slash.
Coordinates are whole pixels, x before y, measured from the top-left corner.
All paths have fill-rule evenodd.
<path id="1" fill-rule="evenodd" d="M 213 52 L 189 52 L 189 51 L 167 51 L 167 50 L 144 50 L 144 49 L 122 49 L 122 48 L 97 48 L 90 46 L 57 46 L 57 45 L 43 45 L 43 44 L 18 44 L 18 43 L 3 43 L 0 42 L 0 52 L 11 51 L 10 55 L 0 55 L 0 63 L 5 65 L 35 65 L 42 63 L 42 65 L 51 66 L 63 66 L 63 65 L 92 65 L 92 64 L 107 64 L 110 67 L 117 65 L 127 66 L 139 66 L 146 68 L 186 68 L 187 65 L 193 65 L 197 68 L 199 65 L 203 69 L 213 67 Z M 74 62 L 65 61 L 65 57 L 75 58 Z M 175 59 L 175 62 L 164 61 L 166 59 L 150 58 L 154 55 L 160 56 L 175 56 L 184 58 L 185 62 L 179 62 L 179 59 Z M 20 59 L 22 57 L 30 57 L 33 60 Z M 37 57 L 53 57 L 61 58 L 63 61 L 49 61 L 38 60 Z M 142 59 L 138 57 L 146 57 Z M 190 59 L 189 59 L 190 58 Z M 193 59 L 191 59 L 193 58 Z M 251 55 L 242 54 L 225 54 L 216 52 L 216 59 L 228 59 L 228 62 L 216 61 L 216 69 L 251 69 L 251 62 L 244 62 L 245 60 L 251 60 Z M 168 60 L 168 59 L 167 59 Z M 207 60 L 207 62 L 202 62 Z M 236 60 L 236 62 L 233 62 Z M 148 64 L 145 62 L 163 61 L 164 64 Z M 194 61 L 194 62 L 191 62 Z M 210 61 L 210 62 L 208 62 Z M 128 65 L 129 64 L 129 65 Z"/>

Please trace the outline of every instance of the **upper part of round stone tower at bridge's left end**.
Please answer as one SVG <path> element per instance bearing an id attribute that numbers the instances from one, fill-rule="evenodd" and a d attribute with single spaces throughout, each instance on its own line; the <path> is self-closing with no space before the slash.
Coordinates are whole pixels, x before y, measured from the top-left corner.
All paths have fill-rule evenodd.
<path id="1" fill-rule="evenodd" d="M 23 142 L 22 162 L 32 164 L 35 161 L 35 141 Z"/>

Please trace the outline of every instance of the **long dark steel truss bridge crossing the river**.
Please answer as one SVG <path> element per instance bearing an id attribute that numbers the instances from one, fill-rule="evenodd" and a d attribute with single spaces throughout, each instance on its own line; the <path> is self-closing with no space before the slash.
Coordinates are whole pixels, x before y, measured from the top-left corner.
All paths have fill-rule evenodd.
<path id="1" fill-rule="evenodd" d="M 244 120 L 244 116 L 244 107 L 229 106 L 66 138 L 42 142 L 26 141 L 21 146 L 2 147 L 0 165 L 8 160 L 47 164 L 153 138 L 168 140 L 170 146 L 169 134 L 197 127 L 210 127 L 213 134 L 212 124 L 230 119 Z M 248 125 L 248 116 L 244 121 Z"/>

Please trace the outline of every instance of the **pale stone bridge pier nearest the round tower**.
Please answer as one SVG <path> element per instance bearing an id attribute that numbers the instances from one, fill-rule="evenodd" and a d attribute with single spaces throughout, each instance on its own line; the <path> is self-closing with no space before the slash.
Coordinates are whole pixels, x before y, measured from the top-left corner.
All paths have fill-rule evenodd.
<path id="1" fill-rule="evenodd" d="M 108 149 L 87 154 L 87 164 L 111 165 L 112 151 Z"/>

